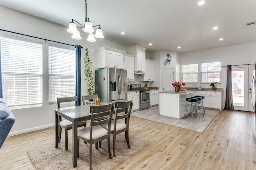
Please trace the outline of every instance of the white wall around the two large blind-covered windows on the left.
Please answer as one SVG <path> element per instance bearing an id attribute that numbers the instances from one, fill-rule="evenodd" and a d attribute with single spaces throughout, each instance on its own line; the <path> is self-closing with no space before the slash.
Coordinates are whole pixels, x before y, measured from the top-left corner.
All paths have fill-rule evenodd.
<path id="1" fill-rule="evenodd" d="M 67 26 L 58 25 L 50 21 L 42 20 L 34 16 L 16 12 L 8 8 L 0 6 L 0 28 L 8 31 L 14 31 L 22 34 L 32 35 L 35 37 L 40 37 L 44 39 L 50 39 L 53 41 L 59 41 L 62 43 L 67 43 L 71 45 L 82 45 L 82 56 L 81 56 L 81 72 L 82 72 L 82 95 L 86 95 L 86 84 L 84 78 L 84 55 L 85 49 L 89 49 L 89 57 L 92 60 L 91 66 L 94 74 L 96 69 L 96 58 L 94 57 L 94 50 L 103 46 L 110 47 L 113 49 L 119 49 L 128 52 L 128 47 L 108 41 L 107 39 L 96 39 L 96 42 L 91 43 L 86 41 L 88 36 L 87 33 L 81 33 L 81 40 L 74 40 L 71 38 L 71 34 L 66 30 Z M 9 34 L 5 31 L 1 33 Z M 13 34 L 18 36 L 16 34 Z M 37 39 L 35 39 L 37 41 Z M 47 43 L 51 43 L 48 42 Z M 48 56 L 47 56 L 48 57 Z M 48 68 L 47 68 L 48 70 Z M 48 104 L 48 82 L 45 81 L 43 84 L 43 106 L 33 107 L 26 109 L 12 109 L 12 113 L 16 118 L 14 126 L 10 131 L 11 135 L 17 135 L 21 133 L 26 133 L 29 131 L 34 131 L 37 129 L 43 129 L 46 127 L 54 126 L 54 110 L 57 108 L 57 104 Z"/>

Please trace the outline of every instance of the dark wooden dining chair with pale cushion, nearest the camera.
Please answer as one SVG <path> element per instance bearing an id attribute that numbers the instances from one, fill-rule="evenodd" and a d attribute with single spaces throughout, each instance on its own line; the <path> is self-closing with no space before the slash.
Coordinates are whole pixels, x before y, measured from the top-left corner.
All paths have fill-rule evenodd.
<path id="1" fill-rule="evenodd" d="M 82 139 L 90 144 L 90 170 L 92 169 L 92 144 L 98 143 L 104 139 L 108 139 L 108 155 L 112 159 L 110 150 L 110 130 L 103 128 L 101 125 L 107 124 L 110 129 L 111 117 L 114 112 L 114 103 L 107 105 L 90 106 L 91 124 L 90 127 L 78 129 L 78 156 L 79 156 L 79 139 Z M 108 117 L 105 117 L 105 116 Z M 96 120 L 95 118 L 105 117 L 104 119 Z"/>

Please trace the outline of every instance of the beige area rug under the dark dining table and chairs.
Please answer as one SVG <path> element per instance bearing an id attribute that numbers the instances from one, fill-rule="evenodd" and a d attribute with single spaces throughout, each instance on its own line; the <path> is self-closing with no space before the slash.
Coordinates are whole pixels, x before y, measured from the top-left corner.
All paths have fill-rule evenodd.
<path id="1" fill-rule="evenodd" d="M 111 139 L 113 140 L 112 135 Z M 108 156 L 107 140 L 102 141 L 102 146 L 99 149 L 95 149 L 95 144 L 92 145 L 92 169 L 110 170 L 149 145 L 149 143 L 134 137 L 129 137 L 129 141 L 130 149 L 128 149 L 125 142 L 124 133 L 116 135 L 116 157 L 113 156 L 112 150 L 112 160 Z M 112 141 L 111 145 L 113 145 Z M 111 146 L 112 148 L 113 146 Z M 63 141 L 59 143 L 58 148 L 55 148 L 54 143 L 52 143 L 31 150 L 27 152 L 27 155 L 36 170 L 87 170 L 90 169 L 89 150 L 90 145 L 80 140 L 80 155 L 76 168 L 72 166 L 72 138 L 68 139 L 68 150 L 65 150 L 65 143 Z"/>

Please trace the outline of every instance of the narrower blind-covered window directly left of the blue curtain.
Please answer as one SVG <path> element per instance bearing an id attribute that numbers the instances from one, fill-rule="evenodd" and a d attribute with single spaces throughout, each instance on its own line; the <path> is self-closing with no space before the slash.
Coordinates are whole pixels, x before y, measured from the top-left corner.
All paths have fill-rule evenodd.
<path id="1" fill-rule="evenodd" d="M 49 102 L 75 96 L 75 49 L 49 45 Z"/>

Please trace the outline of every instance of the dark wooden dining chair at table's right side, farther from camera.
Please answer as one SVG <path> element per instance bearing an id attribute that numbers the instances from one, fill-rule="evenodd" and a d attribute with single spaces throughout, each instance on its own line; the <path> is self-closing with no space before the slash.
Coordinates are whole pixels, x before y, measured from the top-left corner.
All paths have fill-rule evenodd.
<path id="1" fill-rule="evenodd" d="M 128 102 L 115 102 L 115 119 L 111 121 L 110 133 L 113 134 L 113 155 L 116 157 L 116 135 L 125 132 L 125 141 L 128 148 L 129 143 L 129 121 L 132 111 L 132 101 Z M 124 119 L 120 121 L 120 119 Z M 118 121 L 119 120 L 119 121 Z M 105 129 L 109 129 L 107 124 L 102 125 Z"/>

